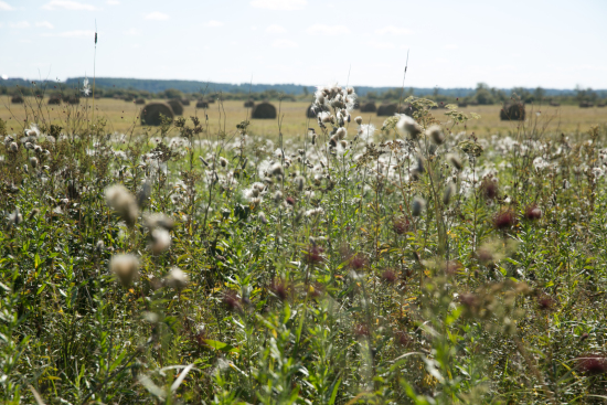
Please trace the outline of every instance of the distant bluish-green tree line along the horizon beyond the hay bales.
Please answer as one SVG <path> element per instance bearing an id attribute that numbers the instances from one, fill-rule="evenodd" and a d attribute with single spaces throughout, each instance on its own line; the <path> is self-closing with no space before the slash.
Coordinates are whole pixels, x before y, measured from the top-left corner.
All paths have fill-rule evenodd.
<path id="1" fill-rule="evenodd" d="M 0 95 L 25 95 L 58 97 L 66 95 L 78 96 L 84 77 L 68 78 L 66 82 L 32 82 L 22 78 L 10 78 L 0 82 Z M 92 81 L 89 79 L 89 85 Z M 315 88 L 295 84 L 263 85 L 263 84 L 222 84 L 194 81 L 153 81 L 135 78 L 104 78 L 95 79 L 95 97 L 118 98 L 127 102 L 152 98 L 188 98 L 212 99 L 220 94 L 223 99 L 236 100 L 277 100 L 286 102 L 310 100 Z M 395 88 L 356 86 L 356 93 L 362 100 L 376 103 L 394 103 L 408 96 L 426 97 L 443 104 L 493 105 L 502 104 L 512 98 L 525 104 L 604 104 L 607 90 L 592 88 L 550 89 L 514 87 L 503 89 L 490 87 L 479 83 L 476 88 Z"/>

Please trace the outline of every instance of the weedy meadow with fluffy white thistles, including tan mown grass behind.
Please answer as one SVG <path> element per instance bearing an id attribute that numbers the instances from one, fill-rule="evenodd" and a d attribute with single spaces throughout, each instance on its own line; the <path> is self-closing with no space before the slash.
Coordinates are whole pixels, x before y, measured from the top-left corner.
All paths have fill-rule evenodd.
<path id="1" fill-rule="evenodd" d="M 603 110 L 354 97 L 3 108 L 2 403 L 605 403 Z"/>

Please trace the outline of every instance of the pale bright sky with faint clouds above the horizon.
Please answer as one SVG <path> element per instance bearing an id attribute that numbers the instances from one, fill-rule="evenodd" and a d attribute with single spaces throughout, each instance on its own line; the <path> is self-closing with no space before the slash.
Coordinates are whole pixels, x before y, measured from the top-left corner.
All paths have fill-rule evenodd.
<path id="1" fill-rule="evenodd" d="M 597 89 L 606 21 L 607 0 L 0 0 L 0 77 L 400 87 L 408 52 L 407 87 Z"/>

